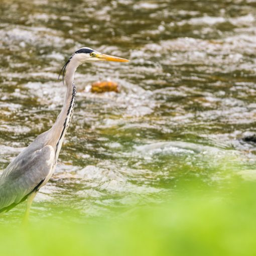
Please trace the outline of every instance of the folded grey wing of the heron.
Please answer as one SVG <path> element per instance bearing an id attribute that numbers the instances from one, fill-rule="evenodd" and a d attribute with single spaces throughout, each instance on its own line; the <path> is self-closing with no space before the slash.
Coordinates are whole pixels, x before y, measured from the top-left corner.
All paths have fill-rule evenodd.
<path id="1" fill-rule="evenodd" d="M 0 177 L 0 210 L 18 204 L 51 173 L 54 149 L 47 145 L 40 150 L 25 149 Z"/>

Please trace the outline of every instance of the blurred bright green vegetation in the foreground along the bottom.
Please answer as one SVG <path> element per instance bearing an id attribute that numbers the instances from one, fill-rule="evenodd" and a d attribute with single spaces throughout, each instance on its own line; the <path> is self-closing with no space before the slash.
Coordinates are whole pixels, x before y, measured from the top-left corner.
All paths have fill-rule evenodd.
<path id="1" fill-rule="evenodd" d="M 111 217 L 81 223 L 73 221 L 74 215 L 54 212 L 48 218 L 32 217 L 28 226 L 2 224 L 0 255 L 256 254 L 254 182 L 179 187 L 161 204 Z"/>

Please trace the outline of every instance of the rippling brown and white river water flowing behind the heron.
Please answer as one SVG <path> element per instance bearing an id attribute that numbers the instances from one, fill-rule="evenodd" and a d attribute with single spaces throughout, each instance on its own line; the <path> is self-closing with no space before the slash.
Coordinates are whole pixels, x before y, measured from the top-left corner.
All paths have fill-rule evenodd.
<path id="1" fill-rule="evenodd" d="M 180 180 L 254 177 L 256 1 L 1 0 L 0 14 L 0 170 L 55 121 L 75 50 L 130 59 L 77 70 L 71 125 L 32 214 L 98 216 L 161 202 Z M 98 80 L 120 92 L 90 92 Z"/>

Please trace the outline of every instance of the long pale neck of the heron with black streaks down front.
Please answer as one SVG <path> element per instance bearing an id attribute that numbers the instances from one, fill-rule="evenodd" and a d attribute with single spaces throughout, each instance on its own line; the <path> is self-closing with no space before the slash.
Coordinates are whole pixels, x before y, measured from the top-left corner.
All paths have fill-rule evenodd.
<path id="1" fill-rule="evenodd" d="M 61 112 L 59 116 L 57 117 L 57 120 L 53 124 L 51 128 L 51 132 L 54 135 L 52 138 L 52 141 L 49 143 L 53 146 L 55 149 L 55 159 L 57 161 L 60 149 L 62 147 L 62 143 L 64 140 L 64 137 L 66 135 L 66 132 L 68 130 L 73 109 L 75 105 L 75 96 L 76 96 L 76 87 L 74 83 L 74 74 L 79 66 L 78 63 L 70 62 L 66 69 L 66 75 L 65 75 L 65 83 L 67 86 L 66 90 L 66 96 L 64 100 L 63 107 L 61 109 Z"/>

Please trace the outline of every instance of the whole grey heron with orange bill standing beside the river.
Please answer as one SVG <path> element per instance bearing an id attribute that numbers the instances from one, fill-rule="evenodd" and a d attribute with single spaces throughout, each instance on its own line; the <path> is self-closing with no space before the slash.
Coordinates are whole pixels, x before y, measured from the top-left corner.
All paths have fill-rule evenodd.
<path id="1" fill-rule="evenodd" d="M 62 80 L 66 83 L 63 107 L 50 130 L 39 135 L 4 170 L 0 177 L 0 212 L 6 212 L 27 199 L 25 219 L 29 217 L 32 201 L 54 173 L 57 160 L 73 114 L 76 87 L 74 74 L 85 62 L 129 60 L 105 55 L 83 47 L 73 53 L 63 66 Z"/>

